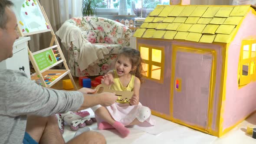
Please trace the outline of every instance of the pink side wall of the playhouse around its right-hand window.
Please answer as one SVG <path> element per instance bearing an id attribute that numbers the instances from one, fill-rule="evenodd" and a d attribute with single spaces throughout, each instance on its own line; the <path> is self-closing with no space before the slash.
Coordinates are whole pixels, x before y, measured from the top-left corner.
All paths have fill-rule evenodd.
<path id="1" fill-rule="evenodd" d="M 223 130 L 243 120 L 256 110 L 256 82 L 238 87 L 238 63 L 240 60 L 241 40 L 248 36 L 256 39 L 256 16 L 249 12 L 233 42 L 228 48 L 226 100 L 223 101 Z"/>

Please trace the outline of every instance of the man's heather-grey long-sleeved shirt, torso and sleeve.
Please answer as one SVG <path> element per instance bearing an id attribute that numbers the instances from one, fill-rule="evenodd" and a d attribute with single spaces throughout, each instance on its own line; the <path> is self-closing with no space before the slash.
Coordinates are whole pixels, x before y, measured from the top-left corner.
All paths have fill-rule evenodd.
<path id="1" fill-rule="evenodd" d="M 45 88 L 23 72 L 0 70 L 0 144 L 22 144 L 26 115 L 76 111 L 83 101 L 81 92 Z"/>

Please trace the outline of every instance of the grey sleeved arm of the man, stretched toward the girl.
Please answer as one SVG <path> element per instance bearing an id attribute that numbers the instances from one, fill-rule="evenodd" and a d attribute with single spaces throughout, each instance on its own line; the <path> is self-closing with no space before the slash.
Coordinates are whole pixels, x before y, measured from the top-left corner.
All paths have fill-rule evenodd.
<path id="1" fill-rule="evenodd" d="M 45 88 L 23 72 L 0 71 L 0 115 L 39 115 L 76 111 L 84 101 L 82 92 Z"/>

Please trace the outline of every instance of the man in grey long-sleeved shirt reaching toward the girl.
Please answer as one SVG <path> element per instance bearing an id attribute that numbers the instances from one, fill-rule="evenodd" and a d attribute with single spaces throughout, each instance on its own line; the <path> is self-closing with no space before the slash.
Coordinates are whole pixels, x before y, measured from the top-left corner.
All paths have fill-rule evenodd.
<path id="1" fill-rule="evenodd" d="M 0 0 L 0 62 L 12 57 L 13 43 L 19 37 L 16 16 L 10 9 L 12 5 L 9 0 Z M 98 104 L 108 106 L 117 99 L 114 93 L 87 94 L 94 92 L 89 88 L 69 92 L 53 90 L 36 85 L 23 72 L 0 70 L 0 143 L 65 143 L 55 113 Z M 104 144 L 105 138 L 89 131 L 69 143 Z"/>

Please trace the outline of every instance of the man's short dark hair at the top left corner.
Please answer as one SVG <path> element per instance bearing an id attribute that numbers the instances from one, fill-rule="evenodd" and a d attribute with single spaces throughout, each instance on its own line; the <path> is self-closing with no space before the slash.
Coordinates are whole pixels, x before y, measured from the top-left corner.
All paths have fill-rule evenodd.
<path id="1" fill-rule="evenodd" d="M 8 17 L 5 13 L 5 8 L 13 6 L 10 0 L 0 0 L 0 28 L 5 29 Z"/>

